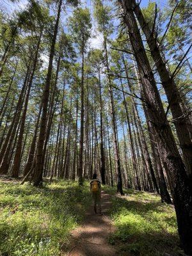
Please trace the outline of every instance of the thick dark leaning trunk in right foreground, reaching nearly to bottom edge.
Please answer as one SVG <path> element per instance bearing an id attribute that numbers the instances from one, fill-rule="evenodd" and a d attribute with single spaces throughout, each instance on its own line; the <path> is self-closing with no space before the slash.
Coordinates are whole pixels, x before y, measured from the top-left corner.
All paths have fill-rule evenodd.
<path id="1" fill-rule="evenodd" d="M 157 134 L 159 152 L 161 152 L 163 162 L 168 166 L 169 172 L 167 175 L 175 204 L 180 241 L 184 251 L 192 254 L 192 191 L 189 186 L 189 179 L 164 113 L 140 30 L 132 12 L 132 1 L 119 0 L 118 2 L 124 10 L 124 21 L 128 28 L 132 51 L 134 51 L 138 64 L 150 122 L 152 122 Z"/>

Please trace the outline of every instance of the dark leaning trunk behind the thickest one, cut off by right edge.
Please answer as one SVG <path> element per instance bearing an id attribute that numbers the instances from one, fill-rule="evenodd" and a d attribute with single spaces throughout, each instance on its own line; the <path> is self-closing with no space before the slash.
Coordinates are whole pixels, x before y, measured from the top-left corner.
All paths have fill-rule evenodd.
<path id="1" fill-rule="evenodd" d="M 182 111 L 182 108 L 180 106 L 180 95 L 177 90 L 174 77 L 172 76 L 172 74 L 170 74 L 168 67 L 166 67 L 166 62 L 163 60 L 163 56 L 161 55 L 161 52 L 159 50 L 156 36 L 154 36 L 152 29 L 150 29 L 148 23 L 145 21 L 140 6 L 136 4 L 135 0 L 131 1 L 134 4 L 134 13 L 136 14 L 138 21 L 140 22 L 143 33 L 145 34 L 147 44 L 150 48 L 150 53 L 152 55 L 154 63 L 156 64 L 159 77 L 161 78 L 161 82 L 166 93 L 166 97 L 168 99 L 168 106 L 172 111 L 175 129 L 184 157 L 184 163 L 186 164 L 188 175 L 192 182 L 192 141 L 189 136 L 188 129 L 188 127 L 191 127 L 190 130 L 192 129 L 192 124 L 191 122 L 189 122 L 189 120 L 186 120 L 188 115 L 185 116 L 184 114 L 186 113 Z M 131 3 L 131 1 L 129 2 Z"/>

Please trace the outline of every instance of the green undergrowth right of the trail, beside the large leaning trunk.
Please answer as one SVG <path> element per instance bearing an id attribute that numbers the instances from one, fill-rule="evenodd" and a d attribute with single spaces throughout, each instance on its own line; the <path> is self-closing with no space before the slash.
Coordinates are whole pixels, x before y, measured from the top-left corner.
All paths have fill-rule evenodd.
<path id="1" fill-rule="evenodd" d="M 106 188 L 114 195 L 115 188 Z M 161 203 L 152 193 L 128 189 L 125 196 L 112 196 L 110 216 L 116 232 L 109 243 L 120 256 L 178 255 L 179 236 L 173 205 Z"/>

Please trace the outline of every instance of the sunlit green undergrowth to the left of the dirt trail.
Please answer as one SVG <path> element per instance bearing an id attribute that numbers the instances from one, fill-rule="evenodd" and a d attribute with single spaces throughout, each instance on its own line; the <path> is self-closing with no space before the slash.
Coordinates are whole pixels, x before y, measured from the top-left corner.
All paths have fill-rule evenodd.
<path id="1" fill-rule="evenodd" d="M 90 205 L 88 183 L 58 181 L 44 188 L 0 182 L 0 255 L 61 255 L 68 233 Z"/>

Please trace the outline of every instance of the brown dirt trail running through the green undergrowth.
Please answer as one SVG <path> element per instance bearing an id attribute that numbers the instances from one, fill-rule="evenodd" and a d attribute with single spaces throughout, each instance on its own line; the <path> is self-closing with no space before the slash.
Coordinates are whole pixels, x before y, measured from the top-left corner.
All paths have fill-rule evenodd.
<path id="1" fill-rule="evenodd" d="M 110 195 L 102 191 L 102 213 L 93 214 L 93 206 L 86 212 L 81 227 L 71 232 L 72 243 L 68 256 L 115 256 L 115 248 L 108 243 L 108 237 L 115 228 L 106 216 L 111 207 Z"/>

